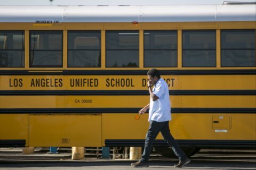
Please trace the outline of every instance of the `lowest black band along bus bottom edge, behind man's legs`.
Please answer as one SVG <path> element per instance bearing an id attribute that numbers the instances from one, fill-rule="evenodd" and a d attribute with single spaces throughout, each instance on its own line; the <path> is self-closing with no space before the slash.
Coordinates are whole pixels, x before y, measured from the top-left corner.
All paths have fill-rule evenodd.
<path id="1" fill-rule="evenodd" d="M 198 148 L 252 148 L 256 147 L 256 140 L 176 140 L 179 146 Z M 144 147 L 144 139 L 106 139 L 107 147 Z M 155 140 L 154 147 L 169 147 L 165 140 Z"/>

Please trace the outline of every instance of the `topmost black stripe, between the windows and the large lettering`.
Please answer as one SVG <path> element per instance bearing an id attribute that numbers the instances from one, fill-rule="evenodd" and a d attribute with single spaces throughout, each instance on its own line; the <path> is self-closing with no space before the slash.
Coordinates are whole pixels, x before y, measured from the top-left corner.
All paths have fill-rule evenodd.
<path id="1" fill-rule="evenodd" d="M 148 70 L 0 70 L 0 75 L 147 75 Z M 60 72 L 56 72 L 60 71 Z M 159 70 L 161 75 L 251 75 L 256 69 L 246 70 Z"/>

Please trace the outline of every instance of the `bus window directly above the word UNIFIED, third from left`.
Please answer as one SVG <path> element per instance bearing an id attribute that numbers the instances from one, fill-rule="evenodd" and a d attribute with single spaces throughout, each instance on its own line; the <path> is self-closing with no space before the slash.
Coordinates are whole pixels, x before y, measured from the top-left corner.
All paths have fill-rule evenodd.
<path id="1" fill-rule="evenodd" d="M 68 67 L 100 67 L 100 51 L 100 31 L 68 31 Z"/>

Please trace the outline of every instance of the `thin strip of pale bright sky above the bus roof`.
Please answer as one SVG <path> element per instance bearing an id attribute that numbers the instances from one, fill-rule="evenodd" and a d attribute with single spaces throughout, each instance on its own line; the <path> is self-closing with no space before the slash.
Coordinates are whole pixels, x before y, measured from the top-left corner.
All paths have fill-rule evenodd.
<path id="1" fill-rule="evenodd" d="M 256 0 L 230 0 L 256 2 Z M 222 4 L 223 0 L 0 0 L 0 5 L 199 5 Z"/>

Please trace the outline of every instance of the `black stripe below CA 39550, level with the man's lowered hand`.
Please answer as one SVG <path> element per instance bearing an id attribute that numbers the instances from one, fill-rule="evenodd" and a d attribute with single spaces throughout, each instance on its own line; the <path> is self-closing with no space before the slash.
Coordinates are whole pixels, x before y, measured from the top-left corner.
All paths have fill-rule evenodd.
<path id="1" fill-rule="evenodd" d="M 138 113 L 141 108 L 0 108 L 0 113 L 79 113 L 79 114 L 105 114 L 105 113 Z M 250 113 L 255 114 L 256 108 L 171 108 L 171 113 Z"/>

